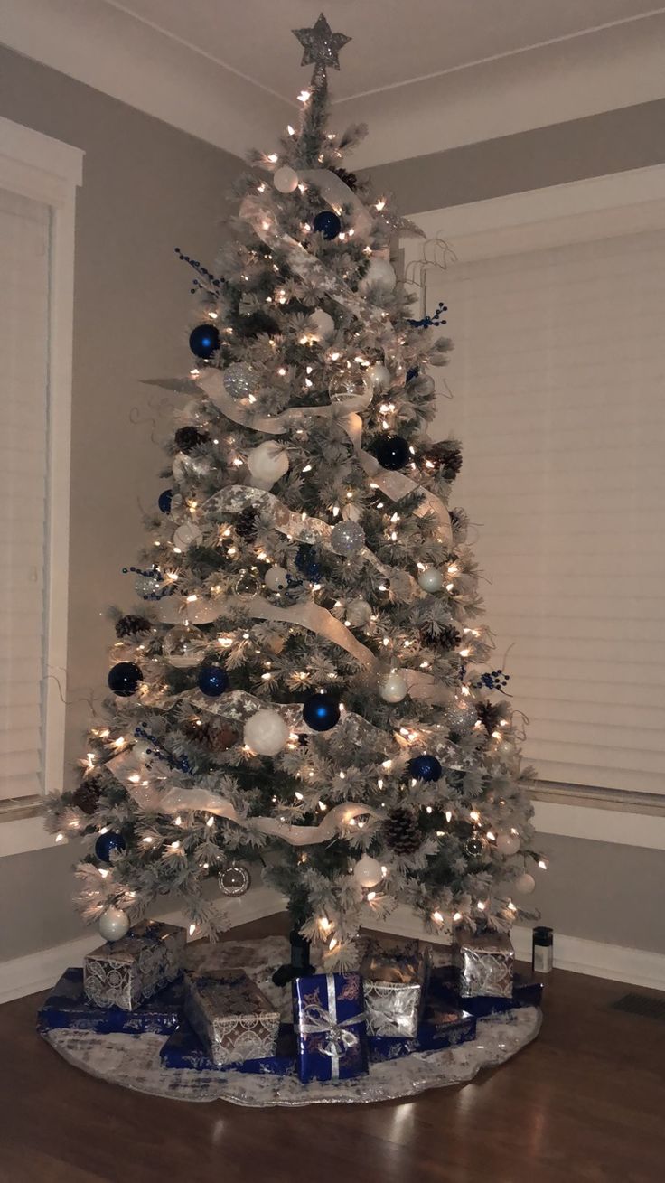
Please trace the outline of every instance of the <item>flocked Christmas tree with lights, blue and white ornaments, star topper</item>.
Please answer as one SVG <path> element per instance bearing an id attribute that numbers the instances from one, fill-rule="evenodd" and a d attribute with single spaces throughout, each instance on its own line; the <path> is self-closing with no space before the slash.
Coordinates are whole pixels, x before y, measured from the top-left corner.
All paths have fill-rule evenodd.
<path id="1" fill-rule="evenodd" d="M 453 439 L 433 444 L 439 318 L 409 317 L 390 246 L 418 233 L 343 167 L 327 69 L 348 38 L 296 35 L 314 64 L 299 127 L 253 154 L 217 274 L 195 272 L 188 379 L 167 489 L 115 614 L 103 724 L 53 832 L 82 836 L 79 906 L 123 935 L 173 892 L 191 931 L 247 864 L 327 965 L 398 903 L 432 931 L 508 929 L 534 887 L 530 806 Z M 180 254 L 180 252 L 179 252 Z"/>

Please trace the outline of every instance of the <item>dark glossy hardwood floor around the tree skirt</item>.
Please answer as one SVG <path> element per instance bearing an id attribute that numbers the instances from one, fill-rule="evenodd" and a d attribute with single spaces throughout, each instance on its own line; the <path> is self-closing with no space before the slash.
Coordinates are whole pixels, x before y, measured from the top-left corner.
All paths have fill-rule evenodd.
<path id="1" fill-rule="evenodd" d="M 233 937 L 285 931 L 280 918 Z M 556 970 L 538 1039 L 463 1088 L 382 1105 L 243 1110 L 93 1080 L 0 1007 L 2 1183 L 661 1183 L 665 1022 L 630 987 Z M 650 993 L 650 991 L 644 991 Z"/>

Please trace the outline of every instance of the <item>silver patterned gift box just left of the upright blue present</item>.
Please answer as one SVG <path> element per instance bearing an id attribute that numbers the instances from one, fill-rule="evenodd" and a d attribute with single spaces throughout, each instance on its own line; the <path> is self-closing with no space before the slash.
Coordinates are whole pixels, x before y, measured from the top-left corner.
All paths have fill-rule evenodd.
<path id="1" fill-rule="evenodd" d="M 185 1014 L 218 1067 L 275 1055 L 279 1011 L 243 970 L 187 974 Z"/>

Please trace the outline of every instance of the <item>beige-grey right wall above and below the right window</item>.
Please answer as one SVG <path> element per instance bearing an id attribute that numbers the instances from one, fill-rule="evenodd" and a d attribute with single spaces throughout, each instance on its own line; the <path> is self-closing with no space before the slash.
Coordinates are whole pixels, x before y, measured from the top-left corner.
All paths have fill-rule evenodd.
<path id="1" fill-rule="evenodd" d="M 665 161 L 665 99 L 372 169 L 405 213 L 466 205 Z M 445 234 L 445 224 L 441 226 Z M 491 623 L 491 622 L 490 622 Z M 665 953 L 665 851 L 543 835 L 550 870 L 530 897 L 542 923 Z"/>

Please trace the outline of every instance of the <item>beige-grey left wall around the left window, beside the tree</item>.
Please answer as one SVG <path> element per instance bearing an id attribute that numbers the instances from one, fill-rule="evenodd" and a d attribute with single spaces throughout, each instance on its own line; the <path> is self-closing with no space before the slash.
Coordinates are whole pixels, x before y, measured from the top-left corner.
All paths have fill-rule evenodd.
<path id="1" fill-rule="evenodd" d="M 103 694 L 112 640 L 104 609 L 131 602 L 121 570 L 141 545 L 142 506 L 151 509 L 163 487 L 140 379 L 182 373 L 191 356 L 189 272 L 174 246 L 214 261 L 225 193 L 241 162 L 2 47 L 0 115 L 85 150 L 76 234 L 71 765 L 88 700 Z M 69 847 L 0 859 L 0 961 L 83 932 L 70 903 L 75 856 Z"/>

